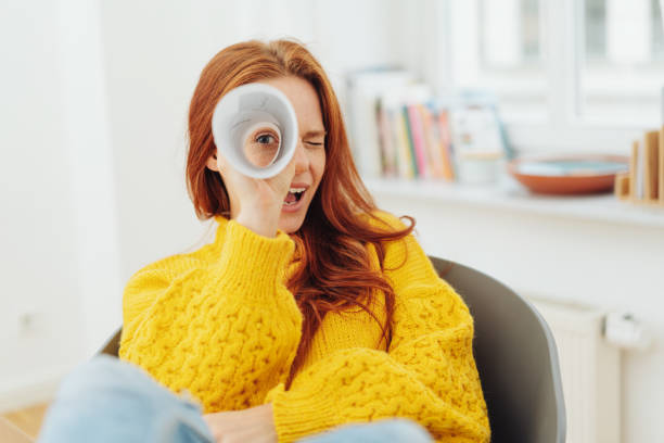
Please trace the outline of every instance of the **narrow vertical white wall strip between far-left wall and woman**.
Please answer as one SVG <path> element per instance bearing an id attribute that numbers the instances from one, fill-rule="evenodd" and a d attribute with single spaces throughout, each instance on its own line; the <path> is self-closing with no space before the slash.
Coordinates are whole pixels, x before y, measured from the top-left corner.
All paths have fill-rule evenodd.
<path id="1" fill-rule="evenodd" d="M 122 321 L 114 164 L 98 1 L 60 8 L 65 147 L 69 161 L 84 349 L 92 355 Z"/>

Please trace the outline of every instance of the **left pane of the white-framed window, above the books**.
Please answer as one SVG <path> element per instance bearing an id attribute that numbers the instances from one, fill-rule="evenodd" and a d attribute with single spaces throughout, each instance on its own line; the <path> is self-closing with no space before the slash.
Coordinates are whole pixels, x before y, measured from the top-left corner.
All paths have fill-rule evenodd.
<path id="1" fill-rule="evenodd" d="M 470 0 L 450 4 L 452 78 L 458 87 L 488 88 L 501 112 L 545 119 L 540 0 Z"/>

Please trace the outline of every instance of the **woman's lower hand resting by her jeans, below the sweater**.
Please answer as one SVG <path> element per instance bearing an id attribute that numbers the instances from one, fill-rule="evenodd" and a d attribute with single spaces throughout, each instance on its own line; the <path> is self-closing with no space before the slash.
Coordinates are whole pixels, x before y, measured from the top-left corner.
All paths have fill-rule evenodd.
<path id="1" fill-rule="evenodd" d="M 244 410 L 205 414 L 203 419 L 217 443 L 277 443 L 271 403 Z"/>

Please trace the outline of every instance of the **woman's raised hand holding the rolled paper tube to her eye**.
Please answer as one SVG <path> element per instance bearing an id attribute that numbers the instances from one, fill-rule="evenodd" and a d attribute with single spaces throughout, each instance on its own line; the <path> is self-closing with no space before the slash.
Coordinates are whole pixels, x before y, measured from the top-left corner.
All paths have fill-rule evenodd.
<path id="1" fill-rule="evenodd" d="M 274 177 L 259 179 L 240 173 L 217 152 L 217 167 L 231 200 L 231 217 L 265 237 L 274 237 L 293 177 L 291 161 Z"/>

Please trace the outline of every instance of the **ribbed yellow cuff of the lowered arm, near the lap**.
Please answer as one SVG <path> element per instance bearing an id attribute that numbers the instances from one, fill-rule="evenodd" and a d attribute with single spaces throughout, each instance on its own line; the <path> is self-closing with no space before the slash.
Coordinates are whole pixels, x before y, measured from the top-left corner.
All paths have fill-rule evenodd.
<path id="1" fill-rule="evenodd" d="M 339 422 L 339 412 L 333 396 L 325 395 L 320 390 L 284 391 L 282 383 L 266 397 L 266 403 L 270 402 L 280 443 L 294 442 L 327 431 Z"/>

